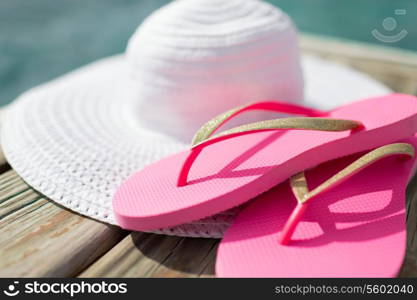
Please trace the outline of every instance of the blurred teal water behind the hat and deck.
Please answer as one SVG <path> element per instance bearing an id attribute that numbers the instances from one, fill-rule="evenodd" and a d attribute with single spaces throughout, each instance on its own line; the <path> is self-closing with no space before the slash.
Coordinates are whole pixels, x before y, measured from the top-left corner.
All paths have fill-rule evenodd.
<path id="1" fill-rule="evenodd" d="M 1 0 L 0 105 L 32 86 L 123 52 L 143 19 L 168 2 Z M 291 15 L 303 32 L 417 51 L 416 0 L 268 2 Z M 406 30 L 407 35 L 398 42 L 386 43 L 376 39 L 373 30 L 389 36 Z"/>

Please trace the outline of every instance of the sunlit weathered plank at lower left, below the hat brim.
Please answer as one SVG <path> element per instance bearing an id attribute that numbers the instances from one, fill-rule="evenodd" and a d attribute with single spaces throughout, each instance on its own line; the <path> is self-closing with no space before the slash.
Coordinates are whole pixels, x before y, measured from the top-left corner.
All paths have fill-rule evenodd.
<path id="1" fill-rule="evenodd" d="M 0 276 L 75 276 L 127 234 L 72 213 L 13 171 L 0 175 Z"/>

